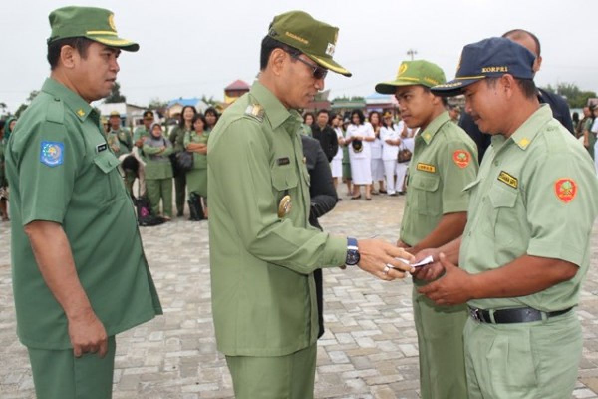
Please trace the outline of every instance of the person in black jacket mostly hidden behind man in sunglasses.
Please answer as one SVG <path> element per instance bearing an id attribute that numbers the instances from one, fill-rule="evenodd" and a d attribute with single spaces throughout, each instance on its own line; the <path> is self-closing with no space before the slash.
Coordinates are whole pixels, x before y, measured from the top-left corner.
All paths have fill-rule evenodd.
<path id="1" fill-rule="evenodd" d="M 301 142 L 311 182 L 309 187 L 309 196 L 311 199 L 309 224 L 322 231 L 322 227 L 318 223 L 318 218 L 332 211 L 332 208 L 338 202 L 338 196 L 334 184 L 332 184 L 332 173 L 330 172 L 327 156 L 318 140 L 310 136 L 301 135 Z M 320 338 L 324 335 L 322 269 L 314 270 L 313 278 L 316 282 L 319 324 L 318 338 Z"/>

